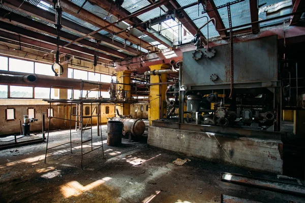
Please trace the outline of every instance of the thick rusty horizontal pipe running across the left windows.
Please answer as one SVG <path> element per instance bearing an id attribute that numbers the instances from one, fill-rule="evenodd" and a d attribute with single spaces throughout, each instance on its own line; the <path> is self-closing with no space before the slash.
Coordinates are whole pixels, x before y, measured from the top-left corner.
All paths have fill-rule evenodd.
<path id="1" fill-rule="evenodd" d="M 108 91 L 110 83 L 95 82 L 88 80 L 78 80 L 72 78 L 45 76 L 38 74 L 27 74 L 13 71 L 0 71 L 0 85 L 17 85 L 17 86 L 30 86 L 30 87 L 47 87 L 50 85 L 69 86 L 73 89 L 80 90 L 81 82 L 84 83 L 83 90 L 97 89 L 98 85 L 102 85 L 101 91 Z M 93 83 L 93 84 L 92 84 Z"/>

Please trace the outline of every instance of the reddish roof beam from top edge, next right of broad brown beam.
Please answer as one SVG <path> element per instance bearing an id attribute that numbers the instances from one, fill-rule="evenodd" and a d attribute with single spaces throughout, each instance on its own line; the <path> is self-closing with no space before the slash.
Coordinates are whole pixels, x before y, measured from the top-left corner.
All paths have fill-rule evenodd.
<path id="1" fill-rule="evenodd" d="M 127 11 L 123 7 L 115 6 L 114 2 L 112 0 L 103 0 L 103 1 L 100 1 L 100 0 L 90 0 L 90 2 L 98 5 L 99 7 L 105 9 L 106 11 L 110 11 L 110 9 L 111 9 L 110 13 L 115 15 L 117 18 L 124 18 L 124 17 L 127 17 L 127 16 L 129 16 L 131 14 L 129 11 Z M 132 18 L 126 19 L 124 21 L 127 22 L 130 25 L 137 25 L 137 24 L 142 22 L 137 17 L 132 17 Z M 138 26 L 136 28 L 139 29 L 140 31 L 144 32 L 150 38 L 152 38 L 152 39 L 156 40 L 157 42 L 159 42 L 160 44 L 166 46 L 167 48 L 172 48 L 172 45 L 169 45 L 169 44 L 167 44 L 165 42 L 165 40 L 166 40 L 165 37 L 154 35 L 153 33 L 150 33 L 149 31 L 146 30 L 146 28 L 144 26 Z M 162 37 L 163 39 L 160 39 L 160 37 Z"/>

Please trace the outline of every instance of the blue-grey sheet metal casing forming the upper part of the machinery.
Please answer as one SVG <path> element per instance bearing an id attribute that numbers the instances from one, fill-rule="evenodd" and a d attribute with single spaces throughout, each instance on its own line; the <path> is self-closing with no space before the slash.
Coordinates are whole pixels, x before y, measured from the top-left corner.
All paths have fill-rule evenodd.
<path id="1" fill-rule="evenodd" d="M 204 51 L 205 49 L 202 49 Z M 220 85 L 230 83 L 230 45 L 215 47 L 212 58 L 193 59 L 193 52 L 183 53 L 182 84 Z M 234 83 L 278 81 L 277 36 L 234 43 Z M 210 76 L 218 79 L 212 81 Z"/>

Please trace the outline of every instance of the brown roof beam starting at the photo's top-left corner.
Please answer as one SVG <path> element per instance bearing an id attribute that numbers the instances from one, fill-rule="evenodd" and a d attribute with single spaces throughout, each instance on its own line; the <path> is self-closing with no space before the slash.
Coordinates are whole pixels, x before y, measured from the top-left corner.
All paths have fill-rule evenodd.
<path id="1" fill-rule="evenodd" d="M 55 14 L 48 12 L 46 10 L 40 9 L 37 6 L 34 6 L 30 3 L 23 2 L 23 4 L 22 4 L 22 1 L 20 1 L 20 0 L 10 0 L 10 2 L 4 2 L 3 4 L 12 9 L 19 10 L 20 12 L 23 12 L 27 15 L 31 15 L 31 16 L 37 17 L 41 20 L 54 24 Z M 18 9 L 19 6 L 20 6 L 20 8 Z M 79 33 L 80 35 L 87 35 L 88 33 L 93 31 L 89 28 L 81 26 L 81 25 L 74 23 L 70 20 L 67 20 L 65 18 L 62 18 L 62 25 L 64 28 L 69 29 L 75 33 Z M 123 43 L 118 42 L 116 40 L 112 40 L 111 38 L 103 36 L 100 33 L 95 33 L 94 35 L 89 36 L 89 38 L 101 40 L 103 43 L 105 43 L 109 46 L 127 51 L 130 55 L 138 54 L 138 51 L 135 48 L 130 47 L 130 46 L 125 46 Z"/>

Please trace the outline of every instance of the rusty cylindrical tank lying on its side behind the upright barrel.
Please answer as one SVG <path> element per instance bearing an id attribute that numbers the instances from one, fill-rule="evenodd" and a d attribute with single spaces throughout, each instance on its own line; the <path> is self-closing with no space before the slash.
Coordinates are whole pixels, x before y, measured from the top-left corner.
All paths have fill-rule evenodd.
<path id="1" fill-rule="evenodd" d="M 110 118 L 111 121 L 121 121 L 123 122 L 123 134 L 131 133 L 132 136 L 142 136 L 145 131 L 145 123 L 137 118 L 137 119 L 130 119 L 130 118 L 117 118 L 112 117 Z M 108 121 L 109 122 L 109 121 Z"/>

